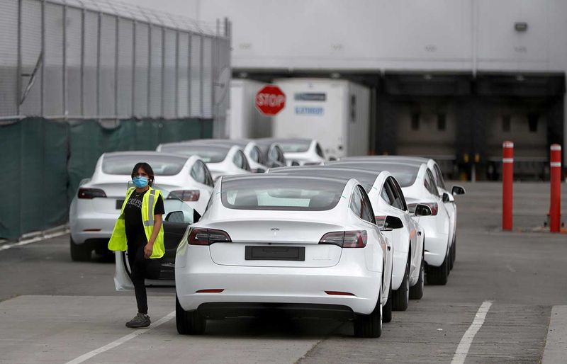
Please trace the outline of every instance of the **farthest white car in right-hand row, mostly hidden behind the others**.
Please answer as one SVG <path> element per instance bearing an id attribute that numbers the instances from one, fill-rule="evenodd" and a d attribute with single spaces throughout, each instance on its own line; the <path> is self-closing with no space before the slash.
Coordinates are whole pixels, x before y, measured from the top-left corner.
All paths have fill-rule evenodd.
<path id="1" fill-rule="evenodd" d="M 453 186 L 451 188 L 451 192 L 447 190 L 447 186 L 445 185 L 445 181 L 443 178 L 443 174 L 437 162 L 431 158 L 423 158 L 423 157 L 409 157 L 409 156 L 368 156 L 368 157 L 349 157 L 346 160 L 353 160 L 353 159 L 371 159 L 371 160 L 379 160 L 379 161 L 393 161 L 393 162 L 402 162 L 402 163 L 410 163 L 410 164 L 427 164 L 427 168 L 430 169 L 431 173 L 433 174 L 433 178 L 435 179 L 435 184 L 437 185 L 437 190 L 439 190 L 439 194 L 441 198 L 443 198 L 444 194 L 447 194 L 445 199 L 443 200 L 445 207 L 447 208 L 447 212 L 449 212 L 450 218 L 450 234 L 449 234 L 449 242 L 451 246 L 449 247 L 449 269 L 453 269 L 453 265 L 456 259 L 456 201 L 454 196 L 455 195 L 464 195 L 465 189 L 461 186 Z"/>

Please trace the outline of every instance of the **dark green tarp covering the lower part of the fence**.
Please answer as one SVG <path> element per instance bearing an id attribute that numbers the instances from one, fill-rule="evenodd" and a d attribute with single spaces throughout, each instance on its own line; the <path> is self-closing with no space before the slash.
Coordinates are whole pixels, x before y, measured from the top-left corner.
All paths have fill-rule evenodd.
<path id="1" fill-rule="evenodd" d="M 26 118 L 0 125 L 0 165 L 7 203 L 0 238 L 17 239 L 68 220 L 79 182 L 104 152 L 153 150 L 157 144 L 212 137 L 212 120 L 96 120 Z"/>

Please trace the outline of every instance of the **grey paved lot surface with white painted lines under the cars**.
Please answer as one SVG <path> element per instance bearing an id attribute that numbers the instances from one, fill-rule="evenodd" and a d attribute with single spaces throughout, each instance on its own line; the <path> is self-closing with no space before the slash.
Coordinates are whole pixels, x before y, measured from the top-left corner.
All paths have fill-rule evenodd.
<path id="1" fill-rule="evenodd" d="M 515 185 L 514 232 L 499 229 L 500 184 L 464 186 L 449 283 L 393 312 L 379 339 L 354 338 L 351 323 L 276 318 L 180 336 L 173 288 L 149 289 L 152 326 L 133 331 L 135 299 L 114 291 L 112 261 L 72 262 L 64 235 L 0 251 L 0 363 L 561 362 L 567 235 L 530 232 L 549 186 Z"/>

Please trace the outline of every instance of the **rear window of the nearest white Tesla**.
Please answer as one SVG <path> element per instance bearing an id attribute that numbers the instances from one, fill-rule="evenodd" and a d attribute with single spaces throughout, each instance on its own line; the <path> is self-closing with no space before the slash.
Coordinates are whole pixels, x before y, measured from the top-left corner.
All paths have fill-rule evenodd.
<path id="1" fill-rule="evenodd" d="M 221 200 L 236 210 L 330 210 L 341 198 L 346 181 L 320 178 L 239 178 L 223 181 Z"/>

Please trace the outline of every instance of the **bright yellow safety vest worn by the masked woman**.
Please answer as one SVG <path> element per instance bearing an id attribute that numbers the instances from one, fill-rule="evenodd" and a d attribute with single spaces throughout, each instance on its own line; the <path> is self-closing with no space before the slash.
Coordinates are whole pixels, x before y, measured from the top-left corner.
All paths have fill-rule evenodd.
<path id="1" fill-rule="evenodd" d="M 124 207 L 126 206 L 126 203 L 128 203 L 128 198 L 130 198 L 130 195 L 132 195 L 134 190 L 134 187 L 128 188 L 126 199 L 122 204 L 122 210 L 120 210 L 120 216 L 118 217 L 118 220 L 116 220 L 116 224 L 114 224 L 111 239 L 108 241 L 108 249 L 111 251 L 126 251 L 126 249 L 128 249 L 124 222 Z M 154 229 L 154 208 L 157 203 L 158 196 L 162 196 L 163 200 L 162 191 L 155 190 L 150 187 L 142 198 L 142 222 L 144 223 L 144 231 L 148 240 L 150 240 L 152 230 Z M 149 208 L 150 206 L 152 207 L 151 209 Z M 164 256 L 164 252 L 164 225 L 162 224 L 162 226 L 159 227 L 159 233 L 155 238 L 154 250 L 152 251 L 150 258 L 161 258 Z"/>

